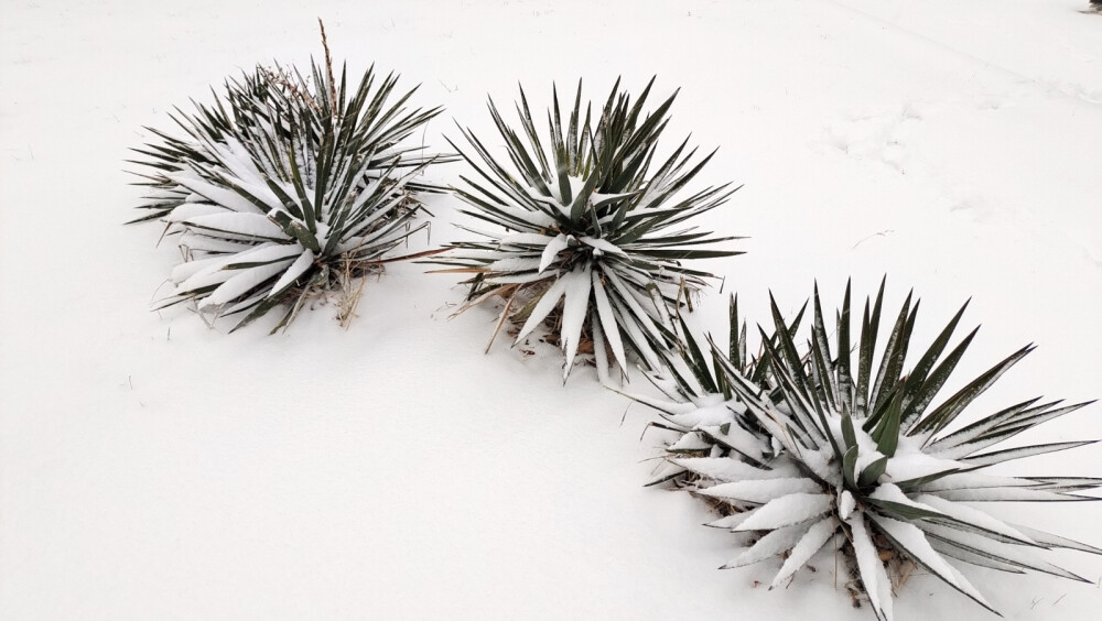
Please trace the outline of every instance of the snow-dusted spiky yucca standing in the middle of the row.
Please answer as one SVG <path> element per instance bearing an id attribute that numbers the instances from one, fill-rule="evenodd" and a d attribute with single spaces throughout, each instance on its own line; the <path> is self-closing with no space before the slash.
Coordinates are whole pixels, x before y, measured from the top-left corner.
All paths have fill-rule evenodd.
<path id="1" fill-rule="evenodd" d="M 644 115 L 651 84 L 633 103 L 617 81 L 595 127 L 591 107 L 582 109 L 581 83 L 565 126 L 555 94 L 542 140 L 521 90 L 517 112 L 527 142 L 490 101 L 511 166 L 461 128 L 476 155 L 456 149 L 482 181 L 463 177 L 467 187 L 456 193 L 469 206 L 465 214 L 494 228 L 468 228 L 485 239 L 454 244 L 441 261 L 452 269 L 443 271 L 473 274 L 464 309 L 501 298 L 498 330 L 506 322 L 520 325 L 516 342 L 548 325 L 565 352 L 564 379 L 590 345 L 603 380 L 612 363 L 626 369 L 631 353 L 658 368 L 657 352 L 674 341 L 670 307 L 711 276 L 681 261 L 739 254 L 700 248 L 736 238 L 680 227 L 734 189 L 679 196 L 712 155 L 690 165 L 695 150 L 687 152 L 687 139 L 653 162 L 676 94 Z"/>

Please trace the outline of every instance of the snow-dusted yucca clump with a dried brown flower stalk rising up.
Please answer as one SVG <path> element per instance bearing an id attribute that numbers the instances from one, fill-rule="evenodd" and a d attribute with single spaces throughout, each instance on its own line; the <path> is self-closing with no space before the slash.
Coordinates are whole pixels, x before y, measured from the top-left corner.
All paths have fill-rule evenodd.
<path id="1" fill-rule="evenodd" d="M 165 221 L 185 261 L 156 307 L 194 302 L 210 317 L 240 316 L 237 329 L 283 306 L 279 329 L 337 290 L 349 319 L 357 279 L 428 226 L 412 226 L 417 193 L 442 189 L 414 181 L 434 157 L 403 144 L 441 109 L 408 110 L 412 90 L 391 101 L 397 81 L 374 67 L 358 85 L 344 68 L 337 81 L 326 46 L 309 78 L 258 67 L 226 83 L 225 102 L 177 111 L 183 138 L 151 130 L 163 143 L 138 150 L 154 172 L 137 221 Z"/>

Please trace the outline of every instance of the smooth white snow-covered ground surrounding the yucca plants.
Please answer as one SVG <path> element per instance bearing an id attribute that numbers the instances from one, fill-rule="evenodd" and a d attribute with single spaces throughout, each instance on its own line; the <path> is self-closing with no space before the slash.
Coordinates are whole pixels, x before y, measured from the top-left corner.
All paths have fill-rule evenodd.
<path id="1" fill-rule="evenodd" d="M 818 279 L 890 305 L 925 342 L 969 296 L 958 370 L 1040 347 L 981 407 L 1102 396 L 1102 14 L 1087 0 L 196 1 L 0 4 L 0 619 L 871 619 L 833 558 L 769 592 L 687 494 L 645 489 L 651 414 L 559 358 L 449 320 L 454 279 L 398 265 L 347 331 L 332 308 L 231 336 L 148 310 L 175 263 L 128 149 L 257 62 L 338 58 L 423 83 L 422 106 L 489 135 L 489 94 L 616 76 L 681 87 L 670 141 L 722 146 L 701 183 L 746 186 L 705 225 L 750 236 L 726 294 L 768 323 Z M 504 106 L 508 108 L 508 106 Z M 542 107 L 542 105 L 539 105 Z M 457 132 L 434 121 L 426 143 Z M 456 181 L 462 164 L 440 168 Z M 428 248 L 452 239 L 457 201 Z M 553 352 L 552 352 L 553 353 Z M 640 385 L 641 382 L 637 382 Z M 1046 428 L 1047 427 L 1047 428 Z M 1102 437 L 1102 406 L 1029 439 Z M 642 436 L 642 439 L 640 439 Z M 1015 464 L 1102 476 L 1102 447 Z M 1102 506 L 1014 521 L 1102 545 Z M 1093 619 L 1092 580 L 966 575 L 1009 619 Z M 838 582 L 838 584 L 835 584 Z M 898 619 L 991 615 L 930 576 Z"/>

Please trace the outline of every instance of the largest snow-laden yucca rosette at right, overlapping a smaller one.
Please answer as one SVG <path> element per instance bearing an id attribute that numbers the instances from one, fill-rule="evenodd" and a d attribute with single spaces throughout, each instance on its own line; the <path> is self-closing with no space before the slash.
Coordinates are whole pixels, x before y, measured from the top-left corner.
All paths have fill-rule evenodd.
<path id="1" fill-rule="evenodd" d="M 782 447 L 768 464 L 743 456 L 674 460 L 701 478 L 698 493 L 732 509 L 714 525 L 758 536 L 726 567 L 785 556 L 775 587 L 834 542 L 856 567 L 853 588 L 867 595 L 879 619 L 892 619 L 893 580 L 898 584 L 916 566 L 988 610 L 991 604 L 950 560 L 1088 581 L 1037 553 L 1102 549 L 963 504 L 1096 500 L 1083 492 L 1098 488 L 1102 479 L 985 471 L 996 464 L 1090 444 L 992 448 L 1085 403 L 1030 400 L 954 428 L 970 404 L 1033 347 L 1012 353 L 933 406 L 975 330 L 949 348 L 962 307 L 904 374 L 918 303 L 912 305 L 908 295 L 877 360 L 883 292 L 882 284 L 876 301 L 869 305 L 866 299 L 860 336 L 851 341 L 846 287 L 832 351 L 817 291 L 806 353 L 798 352 L 787 330 L 778 329 L 776 342 L 766 339 L 771 378 L 767 389 L 736 364 L 716 358 L 734 394 Z M 776 304 L 773 314 L 776 325 L 784 326 Z M 856 346 L 855 356 L 851 346 Z"/>

